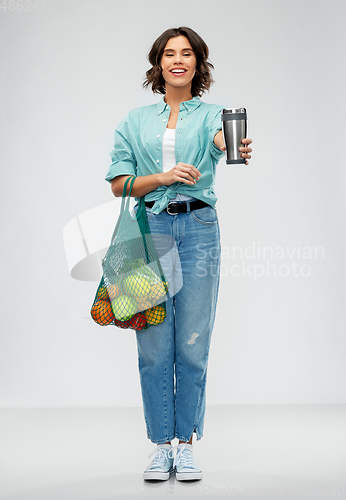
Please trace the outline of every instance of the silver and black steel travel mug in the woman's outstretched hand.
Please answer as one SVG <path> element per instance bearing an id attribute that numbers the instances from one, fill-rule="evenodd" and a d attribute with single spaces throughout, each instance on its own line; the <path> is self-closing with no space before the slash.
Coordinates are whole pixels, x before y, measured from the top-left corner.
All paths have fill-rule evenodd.
<path id="1" fill-rule="evenodd" d="M 239 147 L 246 145 L 241 141 L 247 134 L 247 114 L 245 108 L 226 108 L 221 113 L 223 140 L 226 146 L 226 163 L 246 163 Z"/>

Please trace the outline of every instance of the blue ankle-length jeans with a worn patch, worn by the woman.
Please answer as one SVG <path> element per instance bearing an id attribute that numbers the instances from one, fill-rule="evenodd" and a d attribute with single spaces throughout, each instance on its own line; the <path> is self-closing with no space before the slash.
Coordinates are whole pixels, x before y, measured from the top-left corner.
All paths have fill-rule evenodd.
<path id="1" fill-rule="evenodd" d="M 160 257 L 170 284 L 167 316 L 163 323 L 136 332 L 147 437 L 153 443 L 189 441 L 195 432 L 199 440 L 219 289 L 217 212 L 208 206 L 176 215 L 147 209 L 147 214 L 159 255 L 159 235 L 175 243 Z"/>

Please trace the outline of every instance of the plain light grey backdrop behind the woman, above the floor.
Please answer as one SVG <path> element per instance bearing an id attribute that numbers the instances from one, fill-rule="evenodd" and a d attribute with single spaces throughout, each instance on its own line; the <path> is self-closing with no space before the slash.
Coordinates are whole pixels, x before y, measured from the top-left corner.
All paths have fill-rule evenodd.
<path id="1" fill-rule="evenodd" d="M 0 12 L 1 406 L 141 404 L 135 333 L 88 319 L 97 282 L 71 278 L 62 235 L 114 200 L 114 129 L 160 99 L 141 88 L 146 55 L 181 25 L 215 66 L 202 100 L 245 106 L 253 139 L 250 165 L 218 165 L 224 257 L 207 401 L 346 402 L 345 13 L 337 0 Z M 263 247 L 269 272 L 251 253 Z"/>

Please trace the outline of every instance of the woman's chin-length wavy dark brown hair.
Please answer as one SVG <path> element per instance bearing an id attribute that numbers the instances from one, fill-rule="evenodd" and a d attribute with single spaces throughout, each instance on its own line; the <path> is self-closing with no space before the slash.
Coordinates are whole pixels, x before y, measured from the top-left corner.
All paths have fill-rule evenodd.
<path id="1" fill-rule="evenodd" d="M 191 94 L 192 97 L 200 97 L 204 92 L 209 91 L 209 87 L 214 83 L 211 76 L 211 69 L 214 69 L 214 66 L 208 61 L 209 49 L 205 41 L 186 26 L 170 28 L 155 40 L 148 53 L 148 60 L 152 67 L 145 73 L 146 79 L 143 82 L 143 87 L 151 86 L 154 94 L 166 94 L 161 59 L 168 40 L 180 35 L 189 40 L 196 57 L 196 73 L 191 82 Z"/>

